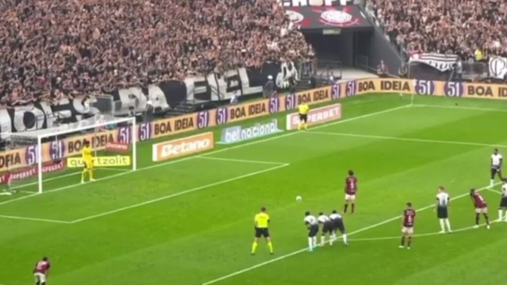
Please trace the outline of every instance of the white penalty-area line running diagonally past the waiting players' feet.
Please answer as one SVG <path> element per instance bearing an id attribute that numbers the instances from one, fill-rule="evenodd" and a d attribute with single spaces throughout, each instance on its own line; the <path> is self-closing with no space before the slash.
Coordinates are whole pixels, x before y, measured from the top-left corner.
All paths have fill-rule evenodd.
<path id="1" fill-rule="evenodd" d="M 498 185 L 499 183 L 495 184 L 495 185 Z M 485 189 L 488 189 L 488 187 L 483 187 L 483 188 L 480 188 L 480 189 L 477 189 L 478 191 L 482 191 L 482 190 L 485 190 Z M 451 200 L 456 200 L 456 199 L 459 199 L 459 198 L 462 198 L 462 197 L 466 197 L 466 196 L 469 196 L 470 194 L 469 193 L 463 193 L 461 195 L 458 195 L 456 197 L 453 197 Z M 422 207 L 420 209 L 417 209 L 416 211 L 423 211 L 423 210 L 427 210 L 427 209 L 430 209 L 430 208 L 434 208 L 435 207 L 435 204 L 430 204 L 428 206 L 425 206 L 425 207 Z M 392 221 L 396 221 L 396 220 L 400 220 L 402 218 L 402 216 L 396 216 L 394 218 L 391 218 L 391 219 L 388 219 L 388 220 L 385 220 L 385 221 L 382 221 L 380 223 L 377 223 L 377 224 L 374 224 L 374 225 L 371 225 L 371 226 L 368 226 L 368 227 L 365 227 L 365 228 L 361 228 L 361 229 L 358 229 L 356 231 L 353 231 L 349 234 L 347 234 L 347 236 L 351 236 L 351 235 L 354 235 L 354 234 L 358 234 L 360 232 L 364 232 L 364 231 L 367 231 L 369 229 L 373 229 L 373 228 L 376 228 L 376 227 L 379 227 L 379 226 L 382 226 L 384 224 L 387 224 L 387 223 L 390 223 Z M 401 236 L 399 236 L 400 238 Z M 219 277 L 219 278 L 216 278 L 216 279 L 213 279 L 211 281 L 207 281 L 207 282 L 204 282 L 202 283 L 201 285 L 209 285 L 209 284 L 213 284 L 213 283 L 216 283 L 216 282 L 219 282 L 219 281 L 222 281 L 224 279 L 228 279 L 230 277 L 233 277 L 233 276 L 236 276 L 236 275 L 239 275 L 239 274 L 242 274 L 242 273 L 245 273 L 245 272 L 248 272 L 248 271 L 251 271 L 253 269 L 256 269 L 256 268 L 259 268 L 259 267 L 262 267 L 262 266 L 265 266 L 265 265 L 268 265 L 268 264 L 271 264 L 271 263 L 274 263 L 274 262 L 277 262 L 279 260 L 283 260 L 283 259 L 286 259 L 288 257 L 291 257 L 291 256 L 295 256 L 295 255 L 298 255 L 300 253 L 304 253 L 308 250 L 307 247 L 305 248 L 302 248 L 301 250 L 298 250 L 298 251 L 295 251 L 295 252 L 292 252 L 292 253 L 289 253 L 289 254 L 286 254 L 286 255 L 282 255 L 280 257 L 277 257 L 277 258 L 274 258 L 274 259 L 270 259 L 268 261 L 265 261 L 265 262 L 262 262 L 262 263 L 259 263 L 259 264 L 256 264 L 256 265 L 253 265 L 253 266 L 250 266 L 250 267 L 247 267 L 245 269 L 242 269 L 242 270 L 239 270 L 239 271 L 236 271 L 234 273 L 231 273 L 231 274 L 228 274 L 228 275 L 225 275 L 225 276 L 222 276 L 222 277 Z"/>

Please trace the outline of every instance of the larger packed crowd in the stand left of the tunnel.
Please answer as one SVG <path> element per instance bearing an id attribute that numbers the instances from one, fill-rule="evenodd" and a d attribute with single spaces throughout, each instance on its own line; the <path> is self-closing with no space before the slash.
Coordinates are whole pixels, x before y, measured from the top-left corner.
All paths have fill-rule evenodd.
<path id="1" fill-rule="evenodd" d="M 0 103 L 305 59 L 291 26 L 276 0 L 2 0 Z"/>

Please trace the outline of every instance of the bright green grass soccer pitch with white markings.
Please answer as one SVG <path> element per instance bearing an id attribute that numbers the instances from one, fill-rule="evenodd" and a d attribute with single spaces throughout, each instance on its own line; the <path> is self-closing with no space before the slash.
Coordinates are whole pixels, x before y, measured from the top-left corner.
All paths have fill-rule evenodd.
<path id="1" fill-rule="evenodd" d="M 170 138 L 140 142 L 138 171 L 99 169 L 85 185 L 48 176 L 43 194 L 32 185 L 0 196 L 0 284 L 32 283 L 43 256 L 51 285 L 503 283 L 507 223 L 472 229 L 468 190 L 481 189 L 496 220 L 499 186 L 485 186 L 493 148 L 507 151 L 507 102 L 370 94 L 341 103 L 340 121 L 308 131 L 156 164 L 152 144 Z M 274 117 L 284 126 L 284 114 Z M 349 169 L 359 180 L 356 213 L 344 216 L 350 245 L 309 253 L 304 212 L 341 211 Z M 438 234 L 439 185 L 453 198 L 452 234 Z M 418 209 L 410 251 L 397 248 L 408 201 Z M 264 240 L 249 254 L 261 206 L 273 256 Z"/>

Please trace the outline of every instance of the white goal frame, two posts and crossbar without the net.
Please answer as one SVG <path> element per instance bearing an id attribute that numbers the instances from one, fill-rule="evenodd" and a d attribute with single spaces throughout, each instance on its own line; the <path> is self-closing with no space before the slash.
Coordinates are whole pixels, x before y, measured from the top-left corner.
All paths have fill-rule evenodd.
<path id="1" fill-rule="evenodd" d="M 37 161 L 38 161 L 38 175 L 39 175 L 39 193 L 42 193 L 42 189 L 43 189 L 43 180 L 42 180 L 42 167 L 43 167 L 43 156 L 42 156 L 42 152 L 43 152 L 43 149 L 42 149 L 42 140 L 44 138 L 47 138 L 47 137 L 52 137 L 52 136 L 59 136 L 59 135 L 64 135 L 64 134 L 68 134 L 68 133 L 75 133 L 75 132 L 80 132 L 80 131 L 85 131 L 85 130 L 89 130 L 89 129 L 96 129 L 96 128 L 100 128 L 100 127 L 105 127 L 105 126 L 108 126 L 108 125 L 117 125 L 117 124 L 121 124 L 121 123 L 127 123 L 130 125 L 131 127 L 131 132 L 130 132 L 130 140 L 131 140 L 131 144 L 132 144 L 132 170 L 135 171 L 137 169 L 137 160 L 136 160 L 136 153 L 137 153 L 137 150 L 136 150 L 136 131 L 135 131 L 135 128 L 136 128 L 136 125 L 135 125 L 135 117 L 129 117 L 129 118 L 116 118 L 116 119 L 112 119 L 112 120 L 108 120 L 108 121 L 105 121 L 105 122 L 102 122 L 102 123 L 97 123 L 97 124 L 93 124 L 93 125 L 88 125 L 88 126 L 83 126 L 83 127 L 78 127 L 78 128 L 73 128 L 73 129 L 68 129 L 68 130 L 62 130 L 62 131 L 56 131 L 56 132 L 48 132 L 48 133 L 43 133 L 43 134 L 39 134 L 37 135 Z"/>

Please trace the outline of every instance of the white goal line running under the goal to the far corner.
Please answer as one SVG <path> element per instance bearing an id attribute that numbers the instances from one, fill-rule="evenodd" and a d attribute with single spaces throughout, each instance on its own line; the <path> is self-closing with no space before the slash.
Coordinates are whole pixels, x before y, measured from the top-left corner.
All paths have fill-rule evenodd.
<path id="1" fill-rule="evenodd" d="M 340 120 L 340 121 L 332 122 L 332 123 L 329 123 L 329 124 L 322 124 L 322 125 L 313 127 L 313 129 L 319 129 L 319 128 L 323 128 L 323 127 L 327 127 L 327 126 L 342 124 L 342 123 L 346 123 L 346 122 L 350 122 L 350 121 L 354 121 L 354 120 L 359 120 L 359 119 L 364 119 L 364 118 L 368 118 L 368 117 L 372 117 L 372 116 L 376 116 L 376 115 L 381 115 L 381 114 L 385 114 L 385 113 L 389 113 L 389 112 L 393 112 L 393 111 L 409 108 L 410 106 L 411 106 L 410 104 L 403 105 L 403 106 L 398 106 L 398 107 L 395 107 L 395 108 L 386 109 L 386 110 L 383 110 L 383 111 L 374 112 L 374 113 L 370 113 L 370 114 L 365 114 L 365 115 L 361 115 L 361 116 L 357 116 L 357 117 L 353 117 L 353 118 L 349 118 L 349 119 L 345 119 L 345 120 Z M 302 133 L 302 132 L 293 131 L 293 132 L 283 133 L 281 135 L 275 135 L 275 136 L 268 137 L 268 138 L 261 139 L 261 140 L 254 140 L 254 141 L 248 142 L 246 144 L 241 144 L 241 145 L 237 145 L 237 146 L 233 146 L 233 147 L 229 147 L 229 148 L 225 148 L 225 149 L 211 151 L 211 152 L 206 153 L 206 154 L 201 155 L 201 156 L 212 155 L 212 154 L 215 154 L 215 153 L 221 153 L 221 152 L 224 152 L 224 151 L 239 149 L 239 148 L 243 148 L 243 147 L 247 147 L 247 146 L 251 146 L 251 145 L 257 145 L 257 144 L 260 144 L 261 142 L 271 141 L 271 140 L 274 140 L 274 139 L 279 139 L 279 138 L 282 138 L 282 137 L 291 136 L 291 135 L 295 135 L 295 134 L 299 134 L 299 133 Z M 148 169 L 152 169 L 152 168 L 156 168 L 156 167 L 166 166 L 166 165 L 169 165 L 169 164 L 174 164 L 174 163 L 178 163 L 178 162 L 182 162 L 182 161 L 187 161 L 187 160 L 190 160 L 190 159 L 195 159 L 197 157 L 198 156 L 189 156 L 189 157 L 178 159 L 178 160 L 172 160 L 172 161 L 168 161 L 168 162 L 164 162 L 164 163 L 160 163 L 160 164 L 154 164 L 154 165 L 150 165 L 150 166 L 147 166 L 147 167 L 138 168 L 136 171 L 148 170 Z M 125 171 L 125 172 L 117 173 L 117 174 L 114 174 L 114 175 L 102 177 L 102 178 L 97 179 L 96 182 L 112 179 L 112 178 L 119 177 L 119 176 L 123 176 L 123 175 L 126 175 L 126 174 L 130 174 L 131 172 L 134 172 L 134 171 L 130 170 L 130 171 Z M 69 175 L 75 175 L 75 174 L 78 174 L 78 173 L 79 172 L 77 172 L 77 173 L 71 173 L 71 174 L 66 174 L 64 176 L 59 176 L 59 177 L 61 178 L 61 177 L 69 176 Z M 51 180 L 58 179 L 59 177 L 51 178 Z M 46 181 L 49 181 L 49 180 L 46 180 Z M 30 185 L 34 185 L 34 184 L 37 184 L 37 183 L 33 183 L 33 184 L 30 184 Z M 28 198 L 31 198 L 31 197 L 35 197 L 35 196 L 38 196 L 38 195 L 58 192 L 58 191 L 62 191 L 62 190 L 66 190 L 66 189 L 70 189 L 70 188 L 74 188 L 74 187 L 79 187 L 79 186 L 82 186 L 82 185 L 86 185 L 86 184 L 81 184 L 81 183 L 71 184 L 71 185 L 68 185 L 68 186 L 65 186 L 65 187 L 60 187 L 60 188 L 44 191 L 41 194 L 35 193 L 35 194 L 31 194 L 31 195 L 27 195 L 27 196 L 22 196 L 22 197 L 15 198 L 15 199 L 10 199 L 10 200 L 4 201 L 4 202 L 0 202 L 0 206 L 1 205 L 5 205 L 5 204 L 9 204 L 9 203 L 12 203 L 12 202 L 16 202 L 16 201 L 28 199 Z M 28 186 L 28 185 L 26 185 L 26 186 Z M 22 186 L 20 186 L 19 188 L 21 188 L 21 187 Z"/>

